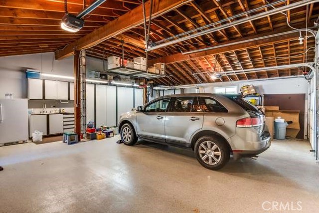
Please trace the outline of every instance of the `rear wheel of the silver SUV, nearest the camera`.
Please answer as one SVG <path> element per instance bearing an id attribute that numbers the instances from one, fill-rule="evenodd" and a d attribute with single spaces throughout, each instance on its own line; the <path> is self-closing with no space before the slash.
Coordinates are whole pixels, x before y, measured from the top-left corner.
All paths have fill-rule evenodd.
<path id="1" fill-rule="evenodd" d="M 194 146 L 197 161 L 205 168 L 219 170 L 229 161 L 230 150 L 224 140 L 217 136 L 203 136 Z"/>

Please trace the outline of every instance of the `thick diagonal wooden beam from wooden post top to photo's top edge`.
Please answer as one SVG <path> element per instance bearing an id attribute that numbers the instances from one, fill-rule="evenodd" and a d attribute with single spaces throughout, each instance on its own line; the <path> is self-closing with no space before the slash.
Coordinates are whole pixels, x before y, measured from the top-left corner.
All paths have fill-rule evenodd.
<path id="1" fill-rule="evenodd" d="M 183 3 L 183 0 L 154 0 L 153 17 L 162 15 L 174 8 L 175 6 Z M 151 1 L 145 3 L 146 11 L 150 11 Z M 147 14 L 147 19 L 149 14 Z M 92 47 L 103 40 L 114 37 L 115 35 L 127 31 L 133 27 L 136 27 L 144 22 L 143 8 L 142 5 L 137 6 L 131 11 L 125 13 L 119 18 L 107 23 L 106 25 L 96 29 L 95 31 L 85 35 L 76 42 L 65 46 L 63 49 L 55 52 L 56 59 L 65 58 L 73 53 L 73 48 L 76 47 L 78 50 Z"/>

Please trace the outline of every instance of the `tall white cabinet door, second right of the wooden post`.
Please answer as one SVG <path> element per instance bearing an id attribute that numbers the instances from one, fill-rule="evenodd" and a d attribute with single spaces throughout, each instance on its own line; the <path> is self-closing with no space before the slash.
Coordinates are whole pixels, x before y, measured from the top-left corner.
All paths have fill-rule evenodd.
<path id="1" fill-rule="evenodd" d="M 96 127 L 106 125 L 106 85 L 96 85 Z"/>

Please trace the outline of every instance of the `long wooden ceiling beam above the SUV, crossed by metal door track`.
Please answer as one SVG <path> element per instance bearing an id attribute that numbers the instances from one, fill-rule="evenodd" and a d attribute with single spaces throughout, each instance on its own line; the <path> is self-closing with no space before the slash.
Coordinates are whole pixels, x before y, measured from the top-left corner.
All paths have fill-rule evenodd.
<path id="1" fill-rule="evenodd" d="M 302 28 L 302 27 L 300 27 L 300 28 Z M 203 56 L 207 56 L 207 55 L 214 55 L 214 54 L 229 52 L 229 51 L 233 51 L 233 50 L 245 49 L 245 48 L 249 48 L 249 47 L 265 45 L 265 44 L 272 43 L 272 42 L 278 42 L 278 41 L 282 41 L 282 40 L 287 40 L 287 39 L 299 37 L 299 33 L 297 32 L 297 33 L 285 34 L 282 36 L 263 38 L 263 39 L 256 40 L 256 41 L 245 42 L 245 40 L 248 40 L 248 39 L 263 37 L 263 36 L 267 36 L 267 35 L 271 35 L 271 34 L 288 32 L 288 31 L 291 31 L 291 28 L 284 28 L 281 30 L 265 32 L 265 33 L 261 33 L 258 35 L 247 36 L 245 38 L 236 39 L 235 41 L 226 41 L 226 42 L 221 43 L 221 45 L 229 44 L 228 46 L 218 47 L 218 45 L 215 45 L 214 49 L 209 49 L 206 51 L 200 51 L 200 52 L 191 53 L 191 54 L 176 53 L 173 55 L 168 55 L 168 56 L 160 57 L 160 58 L 157 58 L 154 60 L 150 60 L 149 63 L 150 64 L 160 63 L 160 62 L 161 63 L 172 63 L 172 62 L 176 62 L 176 61 L 184 61 L 184 60 L 203 57 Z M 237 43 L 237 44 L 232 44 L 232 42 L 237 42 L 237 41 L 242 41 L 242 42 Z"/>

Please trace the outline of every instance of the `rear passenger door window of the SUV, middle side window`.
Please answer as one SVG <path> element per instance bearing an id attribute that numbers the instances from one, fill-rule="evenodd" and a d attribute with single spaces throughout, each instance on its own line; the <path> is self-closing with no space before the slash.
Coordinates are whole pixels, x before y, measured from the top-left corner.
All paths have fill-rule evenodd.
<path id="1" fill-rule="evenodd" d="M 169 112 L 198 112 L 200 111 L 196 97 L 174 98 Z"/>

